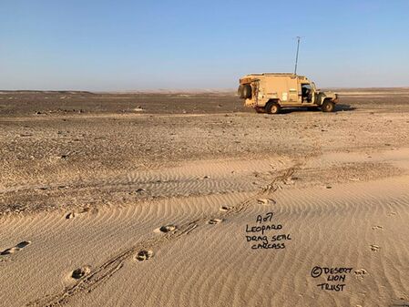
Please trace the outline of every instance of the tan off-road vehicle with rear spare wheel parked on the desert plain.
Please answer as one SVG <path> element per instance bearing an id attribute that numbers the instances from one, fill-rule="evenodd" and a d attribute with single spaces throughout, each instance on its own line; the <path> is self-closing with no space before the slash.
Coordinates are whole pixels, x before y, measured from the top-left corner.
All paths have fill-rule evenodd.
<path id="1" fill-rule="evenodd" d="M 240 78 L 238 89 L 244 105 L 259 113 L 279 113 L 282 107 L 321 108 L 333 112 L 338 96 L 322 92 L 307 77 L 291 73 L 251 74 Z"/>

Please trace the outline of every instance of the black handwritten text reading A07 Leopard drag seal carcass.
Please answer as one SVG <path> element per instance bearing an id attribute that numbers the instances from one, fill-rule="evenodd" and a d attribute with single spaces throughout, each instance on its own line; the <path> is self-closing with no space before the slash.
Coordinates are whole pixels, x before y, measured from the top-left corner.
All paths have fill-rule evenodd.
<path id="1" fill-rule="evenodd" d="M 282 224 L 273 222 L 273 216 L 273 212 L 268 212 L 264 216 L 257 216 L 256 225 L 246 224 L 246 241 L 251 242 L 252 250 L 285 249 L 284 241 L 291 240 L 289 233 L 282 233 L 280 231 Z"/>

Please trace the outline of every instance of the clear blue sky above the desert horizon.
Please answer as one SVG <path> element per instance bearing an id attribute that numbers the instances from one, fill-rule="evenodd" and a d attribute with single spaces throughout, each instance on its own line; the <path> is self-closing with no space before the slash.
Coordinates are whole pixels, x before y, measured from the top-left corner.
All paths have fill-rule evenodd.
<path id="1" fill-rule="evenodd" d="M 0 88 L 232 88 L 251 72 L 319 87 L 409 86 L 409 1 L 0 0 Z"/>

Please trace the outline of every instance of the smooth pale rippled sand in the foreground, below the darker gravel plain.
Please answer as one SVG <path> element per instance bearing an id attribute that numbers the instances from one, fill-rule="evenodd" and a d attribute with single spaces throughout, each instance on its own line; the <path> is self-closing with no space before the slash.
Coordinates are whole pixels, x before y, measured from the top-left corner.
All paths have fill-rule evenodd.
<path id="1" fill-rule="evenodd" d="M 407 153 L 380 152 L 372 159 L 409 169 Z M 275 164 L 276 159 L 187 163 L 150 177 L 140 174 L 145 181 L 164 182 L 161 195 L 169 196 L 158 200 L 73 211 L 70 219 L 63 210 L 4 216 L 2 305 L 391 306 L 407 301 L 409 176 L 340 179 L 331 186 L 309 186 L 299 178 L 305 169 L 322 168 L 322 161 L 362 159 L 339 153 Z M 246 189 L 256 165 L 270 165 L 271 171 Z M 233 176 L 238 169 L 240 176 Z M 223 179 L 229 176 L 227 187 Z M 170 184 L 180 178 L 180 185 Z M 258 223 L 258 215 L 268 221 Z M 282 226 L 267 230 L 269 237 L 290 235 L 285 248 L 252 250 L 257 242 L 246 240 L 246 228 L 269 224 Z M 167 225 L 175 228 L 158 230 Z M 6 254 L 23 241 L 29 244 Z M 151 253 L 139 254 L 148 259 L 138 261 L 139 251 Z M 344 284 L 343 291 L 317 286 L 328 276 L 313 278 L 316 266 L 351 269 L 345 281 L 329 281 Z M 81 268 L 85 275 L 74 279 L 73 271 Z"/>

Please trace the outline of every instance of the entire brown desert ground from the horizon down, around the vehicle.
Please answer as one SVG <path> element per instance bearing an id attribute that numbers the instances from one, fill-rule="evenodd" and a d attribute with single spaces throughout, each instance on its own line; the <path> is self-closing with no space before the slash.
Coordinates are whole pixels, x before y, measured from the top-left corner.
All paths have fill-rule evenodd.
<path id="1" fill-rule="evenodd" d="M 409 306 L 409 89 L 0 93 L 1 306 Z"/>

